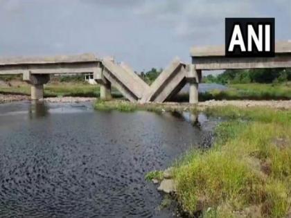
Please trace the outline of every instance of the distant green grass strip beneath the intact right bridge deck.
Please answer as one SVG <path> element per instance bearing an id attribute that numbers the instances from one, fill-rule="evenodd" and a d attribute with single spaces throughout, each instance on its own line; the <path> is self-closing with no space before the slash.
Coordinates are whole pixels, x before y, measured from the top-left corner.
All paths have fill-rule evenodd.
<path id="1" fill-rule="evenodd" d="M 290 100 L 291 83 L 229 84 L 229 89 L 200 93 L 200 100 Z"/>

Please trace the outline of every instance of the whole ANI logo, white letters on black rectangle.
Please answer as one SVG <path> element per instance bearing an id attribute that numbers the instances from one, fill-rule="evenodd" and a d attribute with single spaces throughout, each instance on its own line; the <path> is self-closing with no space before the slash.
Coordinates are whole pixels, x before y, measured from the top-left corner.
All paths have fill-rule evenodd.
<path id="1" fill-rule="evenodd" d="M 226 18 L 227 57 L 274 57 L 274 18 Z"/>

